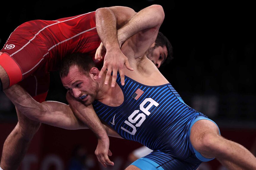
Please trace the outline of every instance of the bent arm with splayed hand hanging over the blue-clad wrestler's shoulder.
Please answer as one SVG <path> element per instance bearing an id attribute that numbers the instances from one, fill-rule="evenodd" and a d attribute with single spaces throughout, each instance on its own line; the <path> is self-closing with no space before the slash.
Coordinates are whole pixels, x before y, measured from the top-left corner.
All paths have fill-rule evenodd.
<path id="1" fill-rule="evenodd" d="M 102 77 L 105 70 L 108 69 L 107 76 L 105 78 L 105 85 L 108 84 L 112 71 L 113 76 L 111 87 L 115 87 L 117 71 L 119 71 L 121 75 L 121 84 L 124 85 L 124 65 L 127 69 L 131 71 L 133 70 L 129 65 L 127 57 L 124 56 L 120 50 L 122 41 L 118 42 L 117 28 L 127 23 L 135 14 L 136 12 L 128 7 L 99 8 L 95 12 L 97 32 L 106 48 L 104 64 L 99 73 L 99 77 Z M 124 37 L 120 40 L 127 38 Z M 103 45 L 101 44 L 101 46 Z M 100 49 L 102 49 L 101 46 L 99 47 Z M 102 50 L 99 50 L 99 48 L 95 54 L 96 59 L 102 58 Z"/>

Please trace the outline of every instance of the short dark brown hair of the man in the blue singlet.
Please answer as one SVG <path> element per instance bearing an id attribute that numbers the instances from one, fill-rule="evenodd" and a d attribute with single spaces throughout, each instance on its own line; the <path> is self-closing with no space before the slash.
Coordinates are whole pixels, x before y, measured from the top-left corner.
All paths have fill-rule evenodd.
<path id="1" fill-rule="evenodd" d="M 74 53 L 65 56 L 60 65 L 60 76 L 66 77 L 69 73 L 69 68 L 72 66 L 78 66 L 81 72 L 87 74 L 92 67 L 95 67 L 94 61 L 88 54 Z"/>

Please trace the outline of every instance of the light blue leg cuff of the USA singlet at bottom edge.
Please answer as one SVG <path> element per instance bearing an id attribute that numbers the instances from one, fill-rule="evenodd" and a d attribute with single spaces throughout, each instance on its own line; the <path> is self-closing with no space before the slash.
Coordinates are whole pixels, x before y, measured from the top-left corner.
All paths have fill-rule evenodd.
<path id="1" fill-rule="evenodd" d="M 164 170 L 159 164 L 148 158 L 137 159 L 131 165 L 134 165 L 141 170 Z"/>

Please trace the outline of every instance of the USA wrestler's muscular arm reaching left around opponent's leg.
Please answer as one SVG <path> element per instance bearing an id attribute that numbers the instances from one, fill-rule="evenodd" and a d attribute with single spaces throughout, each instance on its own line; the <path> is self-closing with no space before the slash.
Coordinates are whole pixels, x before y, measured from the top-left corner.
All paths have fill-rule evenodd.
<path id="1" fill-rule="evenodd" d="M 4 90 L 16 108 L 31 120 L 64 129 L 87 129 L 70 107 L 57 101 L 35 101 L 22 87 L 13 85 Z M 103 125 L 109 136 L 121 138 L 112 128 Z"/>

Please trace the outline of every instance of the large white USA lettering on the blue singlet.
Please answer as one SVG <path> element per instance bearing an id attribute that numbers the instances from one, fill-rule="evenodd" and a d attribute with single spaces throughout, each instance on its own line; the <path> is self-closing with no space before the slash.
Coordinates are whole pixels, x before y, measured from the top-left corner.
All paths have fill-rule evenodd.
<path id="1" fill-rule="evenodd" d="M 150 102 L 149 105 L 145 108 L 144 106 L 146 105 L 147 102 Z M 140 110 L 143 111 L 143 113 L 139 113 L 140 110 L 135 110 L 134 112 L 132 112 L 132 114 L 128 117 L 128 121 L 124 121 L 125 124 L 127 124 L 128 126 L 130 126 L 132 128 L 132 132 L 130 132 L 129 130 L 125 129 L 124 127 L 121 127 L 121 129 L 123 129 L 125 132 L 131 134 L 131 135 L 135 135 L 135 133 L 137 132 L 136 127 L 140 127 L 140 125 L 145 121 L 146 119 L 146 115 L 149 116 L 151 113 L 148 111 L 152 106 L 158 106 L 159 103 L 157 103 L 156 101 L 154 101 L 152 98 L 146 98 L 142 103 L 140 103 Z M 139 114 L 138 114 L 139 113 Z M 133 117 L 138 114 L 134 119 Z M 141 119 L 140 119 L 141 118 Z M 140 121 L 138 122 L 138 120 L 140 119 Z M 136 124 L 135 124 L 136 123 Z M 133 125 L 135 124 L 135 125 Z"/>

